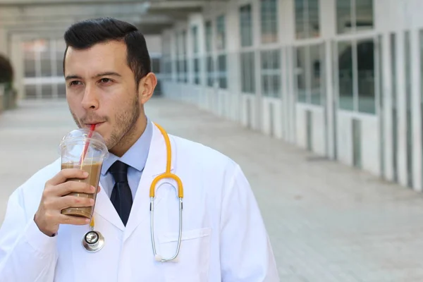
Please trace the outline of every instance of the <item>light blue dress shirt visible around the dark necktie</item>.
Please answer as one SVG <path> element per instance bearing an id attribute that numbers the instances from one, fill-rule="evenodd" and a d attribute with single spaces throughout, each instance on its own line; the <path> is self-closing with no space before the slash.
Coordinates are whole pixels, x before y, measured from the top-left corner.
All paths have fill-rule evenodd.
<path id="1" fill-rule="evenodd" d="M 122 157 L 119 158 L 115 154 L 111 154 L 109 152 L 109 157 L 104 159 L 100 183 L 102 183 L 102 188 L 109 198 L 111 197 L 111 191 L 114 188 L 115 181 L 108 170 L 115 161 L 122 161 L 129 166 L 128 183 L 134 199 L 138 184 L 140 183 L 142 171 L 144 170 L 145 163 L 147 161 L 152 135 L 153 125 L 147 118 L 147 127 L 145 128 L 144 133 L 142 133 L 137 142 L 135 142 L 135 144 L 130 147 L 130 149 L 128 149 Z"/>

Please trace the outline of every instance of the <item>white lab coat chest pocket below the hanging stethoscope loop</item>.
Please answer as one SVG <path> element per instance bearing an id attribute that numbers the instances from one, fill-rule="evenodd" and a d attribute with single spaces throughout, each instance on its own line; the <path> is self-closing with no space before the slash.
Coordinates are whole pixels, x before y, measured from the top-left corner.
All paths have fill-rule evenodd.
<path id="1" fill-rule="evenodd" d="M 207 281 L 209 272 L 210 234 L 212 228 L 183 231 L 176 261 L 164 262 L 166 281 Z M 161 257 L 173 257 L 178 247 L 179 233 L 164 233 L 159 237 Z"/>

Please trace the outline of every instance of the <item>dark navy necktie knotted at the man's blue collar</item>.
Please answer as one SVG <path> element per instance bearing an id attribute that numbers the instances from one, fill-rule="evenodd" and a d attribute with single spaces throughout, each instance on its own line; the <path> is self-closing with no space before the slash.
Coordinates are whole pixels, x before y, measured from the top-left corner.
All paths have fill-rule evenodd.
<path id="1" fill-rule="evenodd" d="M 132 193 L 128 183 L 128 165 L 121 161 L 115 161 L 109 168 L 111 175 L 114 177 L 115 185 L 111 192 L 110 200 L 114 205 L 116 212 L 121 216 L 123 225 L 128 222 L 130 208 L 133 204 Z"/>

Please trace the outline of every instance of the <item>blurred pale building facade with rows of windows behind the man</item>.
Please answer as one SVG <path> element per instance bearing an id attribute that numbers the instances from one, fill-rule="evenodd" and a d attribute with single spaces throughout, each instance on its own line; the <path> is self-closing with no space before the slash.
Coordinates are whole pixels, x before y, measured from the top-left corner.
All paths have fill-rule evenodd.
<path id="1" fill-rule="evenodd" d="M 0 0 L 0 8 L 7 1 Z M 4 7 L 17 3 L 9 2 Z M 125 6 L 130 3 L 147 2 L 115 1 L 123 20 L 123 11 L 130 18 L 137 13 Z M 157 94 L 422 190 L 422 0 L 166 0 L 148 6 L 140 29 L 159 76 Z M 27 37 L 5 32 L 0 20 L 0 52 L 16 66 L 21 97 L 64 97 L 62 34 Z"/>

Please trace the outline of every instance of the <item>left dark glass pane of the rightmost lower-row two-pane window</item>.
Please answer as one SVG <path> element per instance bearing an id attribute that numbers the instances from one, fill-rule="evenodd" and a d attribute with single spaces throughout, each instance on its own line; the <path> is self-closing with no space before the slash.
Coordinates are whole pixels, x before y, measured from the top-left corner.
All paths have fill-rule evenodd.
<path id="1" fill-rule="evenodd" d="M 353 99 L 353 45 L 351 42 L 338 42 L 338 87 L 339 108 L 354 109 Z"/>

